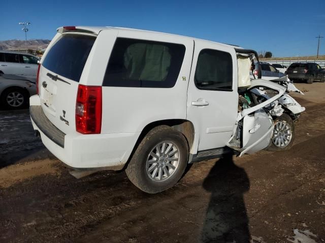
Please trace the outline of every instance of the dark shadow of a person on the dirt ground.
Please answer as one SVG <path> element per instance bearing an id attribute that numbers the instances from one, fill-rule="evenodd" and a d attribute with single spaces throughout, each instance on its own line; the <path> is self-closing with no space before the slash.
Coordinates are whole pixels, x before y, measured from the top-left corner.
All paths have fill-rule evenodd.
<path id="1" fill-rule="evenodd" d="M 249 190 L 244 169 L 236 166 L 232 155 L 216 161 L 203 182 L 211 192 L 201 242 L 249 242 L 250 232 L 243 195 Z"/>

